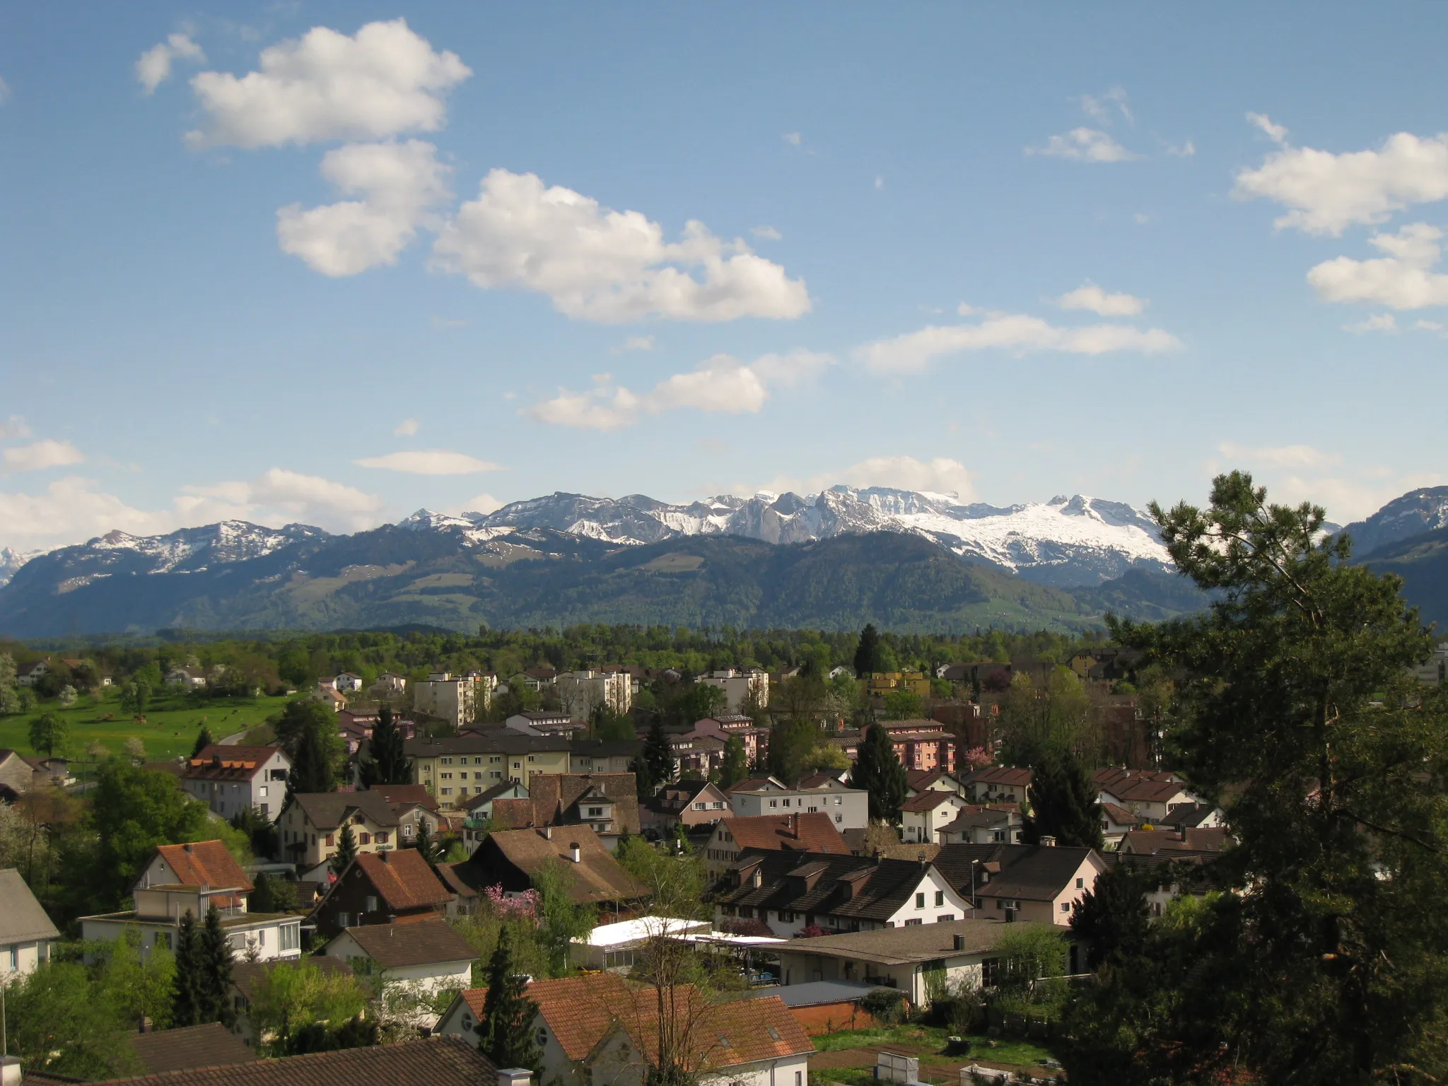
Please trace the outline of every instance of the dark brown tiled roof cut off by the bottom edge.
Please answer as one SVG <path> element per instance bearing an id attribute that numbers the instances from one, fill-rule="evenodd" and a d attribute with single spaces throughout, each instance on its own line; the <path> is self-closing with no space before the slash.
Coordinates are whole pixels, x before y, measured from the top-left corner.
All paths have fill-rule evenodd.
<path id="1" fill-rule="evenodd" d="M 460 1037 L 251 1060 L 226 1067 L 110 1079 L 135 1086 L 479 1086 L 498 1069 Z"/>

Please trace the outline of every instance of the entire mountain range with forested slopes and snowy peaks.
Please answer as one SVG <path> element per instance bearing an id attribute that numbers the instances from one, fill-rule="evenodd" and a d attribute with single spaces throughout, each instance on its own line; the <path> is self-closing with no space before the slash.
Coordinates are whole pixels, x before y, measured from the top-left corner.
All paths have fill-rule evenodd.
<path id="1" fill-rule="evenodd" d="M 1348 527 L 1360 560 L 1448 617 L 1448 487 Z M 1145 513 L 1082 495 L 1011 507 L 834 487 L 670 505 L 552 494 L 330 534 L 223 521 L 0 552 L 0 633 L 579 621 L 909 631 L 1080 630 L 1202 607 Z"/>

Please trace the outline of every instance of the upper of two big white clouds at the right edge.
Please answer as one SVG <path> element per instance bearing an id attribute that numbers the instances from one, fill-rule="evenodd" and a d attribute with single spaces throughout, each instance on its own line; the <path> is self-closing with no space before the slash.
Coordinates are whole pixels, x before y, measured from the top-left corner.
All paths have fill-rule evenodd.
<path id="1" fill-rule="evenodd" d="M 1290 146 L 1286 129 L 1257 114 L 1248 119 L 1279 133 L 1281 149 L 1257 169 L 1241 171 L 1232 195 L 1267 197 L 1292 209 L 1273 222 L 1279 229 L 1338 236 L 1354 223 L 1381 223 L 1410 204 L 1448 198 L 1448 135 L 1419 139 L 1399 132 L 1378 151 L 1334 155 Z"/>

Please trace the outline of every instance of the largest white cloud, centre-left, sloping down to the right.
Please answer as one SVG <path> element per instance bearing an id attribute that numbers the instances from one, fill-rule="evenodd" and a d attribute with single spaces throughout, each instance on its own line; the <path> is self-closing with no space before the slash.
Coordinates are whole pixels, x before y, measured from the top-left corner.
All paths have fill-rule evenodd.
<path id="1" fill-rule="evenodd" d="M 691 220 L 678 242 L 639 211 L 614 211 L 536 174 L 494 169 L 433 246 L 434 264 L 482 288 L 547 294 L 571 317 L 618 323 L 791 319 L 809 311 L 802 279 Z"/>

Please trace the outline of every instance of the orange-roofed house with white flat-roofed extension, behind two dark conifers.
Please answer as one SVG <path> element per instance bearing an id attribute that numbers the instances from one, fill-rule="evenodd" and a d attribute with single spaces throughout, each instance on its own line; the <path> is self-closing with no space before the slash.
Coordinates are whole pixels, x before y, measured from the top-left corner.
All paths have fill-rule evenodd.
<path id="1" fill-rule="evenodd" d="M 290 912 L 248 912 L 253 889 L 222 841 L 158 844 L 130 888 L 135 908 L 81 917 L 81 938 L 140 937 L 140 953 L 156 944 L 175 950 L 181 918 L 204 919 L 214 908 L 232 950 L 259 959 L 301 957 L 301 918 Z"/>

